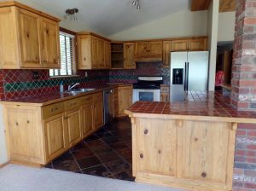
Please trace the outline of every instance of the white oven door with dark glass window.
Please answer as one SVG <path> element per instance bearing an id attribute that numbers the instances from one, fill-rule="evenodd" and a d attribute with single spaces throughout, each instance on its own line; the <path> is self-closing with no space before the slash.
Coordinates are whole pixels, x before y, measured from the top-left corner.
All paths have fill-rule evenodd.
<path id="1" fill-rule="evenodd" d="M 160 101 L 160 90 L 133 89 L 133 102 Z"/>

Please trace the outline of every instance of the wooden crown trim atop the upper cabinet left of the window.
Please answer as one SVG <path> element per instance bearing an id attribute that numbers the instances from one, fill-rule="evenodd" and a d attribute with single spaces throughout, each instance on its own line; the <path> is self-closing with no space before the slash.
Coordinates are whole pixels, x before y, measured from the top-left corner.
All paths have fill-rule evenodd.
<path id="1" fill-rule="evenodd" d="M 22 3 L 18 3 L 18 2 L 15 2 L 15 1 L 2 2 L 2 3 L 0 2 L 0 8 L 11 7 L 11 6 L 15 6 L 15 7 L 18 7 L 20 9 L 26 9 L 27 11 L 30 11 L 30 12 L 32 12 L 34 14 L 38 14 L 40 16 L 43 16 L 43 17 L 45 17 L 45 18 L 47 18 L 49 20 L 54 20 L 56 22 L 60 22 L 61 21 L 60 19 L 58 19 L 58 18 L 56 18 L 54 16 L 46 14 L 46 13 L 44 13 L 42 11 L 37 10 L 37 9 L 33 9 L 33 8 L 29 7 L 29 6 L 26 6 L 25 4 L 22 4 Z"/>

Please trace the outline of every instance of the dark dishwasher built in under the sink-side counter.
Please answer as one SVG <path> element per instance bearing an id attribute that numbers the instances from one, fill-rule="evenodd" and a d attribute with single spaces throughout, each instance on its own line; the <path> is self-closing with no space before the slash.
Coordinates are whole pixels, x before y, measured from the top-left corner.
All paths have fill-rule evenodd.
<path id="1" fill-rule="evenodd" d="M 113 89 L 103 91 L 104 124 L 113 119 Z"/>

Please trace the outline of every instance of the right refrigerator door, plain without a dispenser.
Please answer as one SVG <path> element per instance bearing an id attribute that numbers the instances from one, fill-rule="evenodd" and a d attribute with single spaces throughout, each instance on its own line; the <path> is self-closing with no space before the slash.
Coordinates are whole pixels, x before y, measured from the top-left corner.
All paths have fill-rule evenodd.
<path id="1" fill-rule="evenodd" d="M 188 53 L 187 90 L 208 90 L 208 51 Z"/>

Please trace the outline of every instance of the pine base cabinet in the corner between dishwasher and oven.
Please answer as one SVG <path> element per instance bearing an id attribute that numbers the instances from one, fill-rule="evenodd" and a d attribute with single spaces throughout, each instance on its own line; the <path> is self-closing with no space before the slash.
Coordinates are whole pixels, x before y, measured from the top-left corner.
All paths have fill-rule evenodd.
<path id="1" fill-rule="evenodd" d="M 125 109 L 131 107 L 132 85 L 122 85 L 113 89 L 113 109 L 115 117 L 125 116 Z"/>

